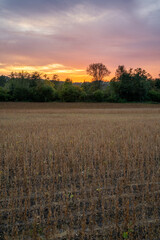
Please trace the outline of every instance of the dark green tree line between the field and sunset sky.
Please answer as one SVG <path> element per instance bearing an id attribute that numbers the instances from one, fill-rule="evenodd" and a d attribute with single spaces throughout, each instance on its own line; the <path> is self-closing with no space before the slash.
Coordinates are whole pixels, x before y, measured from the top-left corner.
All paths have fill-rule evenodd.
<path id="1" fill-rule="evenodd" d="M 118 66 L 110 82 L 104 78 L 110 71 L 102 63 L 90 64 L 86 70 L 91 82 L 76 85 L 71 79 L 52 80 L 39 72 L 15 72 L 0 76 L 0 101 L 31 102 L 160 102 L 160 75 L 152 76 L 141 68 L 127 70 Z"/>

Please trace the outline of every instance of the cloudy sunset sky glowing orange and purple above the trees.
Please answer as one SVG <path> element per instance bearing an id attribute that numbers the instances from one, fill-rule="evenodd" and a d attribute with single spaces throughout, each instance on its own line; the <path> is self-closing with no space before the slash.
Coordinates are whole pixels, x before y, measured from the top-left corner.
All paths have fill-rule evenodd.
<path id="1" fill-rule="evenodd" d="M 160 73 L 160 0 L 0 0 L 0 74 L 89 81 L 91 63 Z"/>

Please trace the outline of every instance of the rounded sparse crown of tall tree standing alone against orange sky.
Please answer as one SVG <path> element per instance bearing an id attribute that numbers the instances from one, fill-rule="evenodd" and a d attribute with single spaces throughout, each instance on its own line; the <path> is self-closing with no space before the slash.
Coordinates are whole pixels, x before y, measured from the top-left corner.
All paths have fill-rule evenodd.
<path id="1" fill-rule="evenodd" d="M 87 74 L 93 77 L 93 81 L 103 81 L 104 77 L 110 74 L 110 71 L 102 63 L 92 63 L 87 68 Z"/>

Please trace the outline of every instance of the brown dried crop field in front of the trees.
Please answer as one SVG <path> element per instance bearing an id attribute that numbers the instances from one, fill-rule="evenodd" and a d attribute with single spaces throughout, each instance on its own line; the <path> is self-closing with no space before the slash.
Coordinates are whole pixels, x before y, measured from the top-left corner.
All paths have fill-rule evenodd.
<path id="1" fill-rule="evenodd" d="M 160 239 L 160 105 L 0 103 L 0 239 Z"/>

